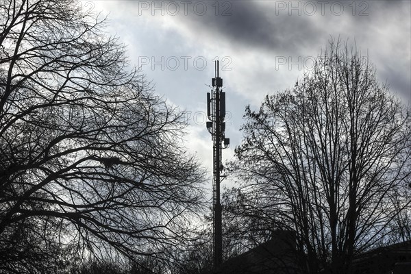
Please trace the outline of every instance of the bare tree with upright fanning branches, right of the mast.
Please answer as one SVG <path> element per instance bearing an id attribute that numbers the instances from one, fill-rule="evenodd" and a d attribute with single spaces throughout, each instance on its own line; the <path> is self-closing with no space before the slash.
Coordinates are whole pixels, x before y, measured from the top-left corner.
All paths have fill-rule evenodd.
<path id="1" fill-rule="evenodd" d="M 245 118 L 231 210 L 261 231 L 295 231 L 303 273 L 349 273 L 409 214 L 410 113 L 356 48 L 332 40 L 294 88 Z"/>

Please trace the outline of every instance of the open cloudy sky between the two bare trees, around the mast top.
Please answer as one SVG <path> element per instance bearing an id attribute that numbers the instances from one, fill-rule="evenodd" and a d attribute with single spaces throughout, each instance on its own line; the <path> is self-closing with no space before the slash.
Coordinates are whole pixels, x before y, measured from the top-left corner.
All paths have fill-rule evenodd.
<path id="1" fill-rule="evenodd" d="M 187 111 L 186 145 L 212 176 L 206 92 L 221 63 L 232 158 L 245 105 L 292 87 L 312 58 L 340 38 L 375 64 L 380 82 L 411 100 L 411 1 L 83 1 L 108 14 L 107 31 L 127 45 L 131 64 L 155 92 Z M 211 185 L 211 181 L 210 181 Z"/>

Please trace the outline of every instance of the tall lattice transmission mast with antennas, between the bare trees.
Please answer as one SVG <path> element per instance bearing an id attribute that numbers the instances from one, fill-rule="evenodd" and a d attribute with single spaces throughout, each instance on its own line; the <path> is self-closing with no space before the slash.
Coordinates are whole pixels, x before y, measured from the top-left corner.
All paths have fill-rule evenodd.
<path id="1" fill-rule="evenodd" d="M 212 78 L 212 90 L 207 92 L 207 116 L 206 123 L 208 132 L 212 136 L 212 157 L 213 157 L 213 177 L 212 177 L 212 216 L 213 216 L 213 253 L 214 269 L 218 268 L 223 261 L 223 234 L 221 225 L 221 203 L 220 203 L 220 183 L 221 171 L 221 151 L 229 147 L 229 138 L 225 138 L 225 92 L 222 92 L 223 79 L 220 78 L 219 60 L 215 61 L 215 77 Z"/>

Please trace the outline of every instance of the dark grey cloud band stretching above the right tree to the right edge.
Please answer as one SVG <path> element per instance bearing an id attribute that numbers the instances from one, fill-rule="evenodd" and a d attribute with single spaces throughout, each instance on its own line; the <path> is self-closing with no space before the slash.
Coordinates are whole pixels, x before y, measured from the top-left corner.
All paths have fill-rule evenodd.
<path id="1" fill-rule="evenodd" d="M 174 17 L 179 24 L 188 27 L 197 45 L 219 43 L 232 45 L 234 49 L 246 49 L 250 54 L 262 56 L 286 55 L 304 56 L 320 53 L 330 37 L 342 37 L 342 40 L 354 40 L 361 49 L 372 49 L 378 58 L 380 80 L 388 82 L 393 90 L 409 97 L 410 66 L 393 66 L 395 60 L 403 56 L 393 56 L 392 49 L 384 49 L 379 43 L 386 39 L 398 38 L 390 33 L 380 33 L 379 27 L 393 25 L 393 31 L 400 30 L 400 37 L 388 41 L 391 45 L 410 47 L 410 1 L 322 1 L 326 3 L 324 14 L 321 14 L 319 1 L 300 1 L 301 8 L 307 2 L 316 5 L 316 13 L 310 16 L 310 10 L 276 10 L 275 1 L 219 1 L 219 15 L 215 15 L 216 1 L 189 1 L 188 15 L 182 10 Z M 196 14 L 192 7 L 195 3 L 205 3 L 208 10 L 204 15 Z M 280 1 L 290 5 L 291 1 Z M 151 1 L 150 1 L 151 3 Z M 170 3 L 168 1 L 167 3 Z M 182 1 L 175 1 L 182 6 Z M 224 5 L 224 3 L 226 3 Z M 229 5 L 227 5 L 229 3 Z M 295 4 L 297 1 L 292 1 Z M 336 4 L 338 3 L 338 4 Z M 338 5 L 343 4 L 343 14 L 338 12 Z M 213 6 L 214 5 L 214 6 Z M 334 12 L 331 6 L 335 5 Z M 229 8 L 228 10 L 225 10 Z M 222 12 L 231 15 L 223 16 Z M 292 12 L 289 15 L 288 12 Z M 407 36 L 408 33 L 408 36 Z M 388 35 L 388 36 L 387 36 Z M 385 42 L 385 41 L 384 41 Z M 395 54 L 395 53 L 394 53 Z M 403 54 L 403 53 L 401 53 Z M 372 61 L 377 61 L 372 60 Z M 399 72 L 399 70 L 405 70 Z"/>

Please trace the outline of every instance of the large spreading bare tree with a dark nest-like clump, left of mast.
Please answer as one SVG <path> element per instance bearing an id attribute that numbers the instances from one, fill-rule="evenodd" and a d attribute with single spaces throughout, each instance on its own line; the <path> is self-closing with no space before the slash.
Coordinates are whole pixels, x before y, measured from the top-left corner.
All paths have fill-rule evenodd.
<path id="1" fill-rule="evenodd" d="M 182 114 L 104 25 L 74 0 L 0 2 L 0 271 L 164 259 L 202 207 Z"/>

